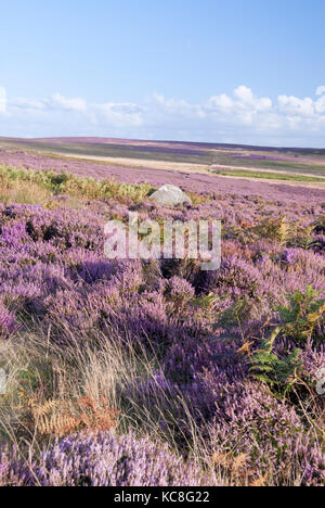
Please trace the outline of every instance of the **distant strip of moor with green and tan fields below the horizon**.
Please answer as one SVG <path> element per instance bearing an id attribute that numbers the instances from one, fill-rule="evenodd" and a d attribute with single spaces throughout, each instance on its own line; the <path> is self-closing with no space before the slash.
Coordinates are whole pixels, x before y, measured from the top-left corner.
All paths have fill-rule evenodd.
<path id="1" fill-rule="evenodd" d="M 130 141 L 105 138 L 10 139 L 0 138 L 0 147 L 100 158 L 157 161 L 160 163 L 222 166 L 240 170 L 258 169 L 325 177 L 325 150 L 278 149 L 231 144 L 169 141 Z M 264 177 L 263 177 L 264 178 Z M 274 179 L 270 177 L 270 179 Z M 283 175 L 281 176 L 283 178 Z M 311 180 L 296 180 L 311 181 Z M 315 181 L 315 180 L 312 180 Z"/>

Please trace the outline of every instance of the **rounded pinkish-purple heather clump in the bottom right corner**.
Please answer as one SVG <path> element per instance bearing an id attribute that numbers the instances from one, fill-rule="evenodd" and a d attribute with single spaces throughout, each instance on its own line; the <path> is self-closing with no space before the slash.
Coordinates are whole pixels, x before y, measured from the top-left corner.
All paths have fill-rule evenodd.
<path id="1" fill-rule="evenodd" d="M 325 457 L 322 447 L 306 431 L 292 407 L 278 403 L 263 388 L 247 385 L 240 398 L 234 398 L 229 420 L 216 419 L 212 428 L 214 449 L 236 449 L 245 454 L 250 467 L 262 474 L 274 471 L 276 485 L 285 484 L 286 471 L 298 465 L 297 482 L 323 486 Z"/>

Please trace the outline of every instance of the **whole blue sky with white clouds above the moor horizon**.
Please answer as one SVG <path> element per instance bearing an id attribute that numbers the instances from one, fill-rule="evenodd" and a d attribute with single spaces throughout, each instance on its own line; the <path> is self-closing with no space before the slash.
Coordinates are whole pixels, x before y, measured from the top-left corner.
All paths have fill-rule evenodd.
<path id="1" fill-rule="evenodd" d="M 325 0 L 11 0 L 0 15 L 0 136 L 325 148 Z"/>

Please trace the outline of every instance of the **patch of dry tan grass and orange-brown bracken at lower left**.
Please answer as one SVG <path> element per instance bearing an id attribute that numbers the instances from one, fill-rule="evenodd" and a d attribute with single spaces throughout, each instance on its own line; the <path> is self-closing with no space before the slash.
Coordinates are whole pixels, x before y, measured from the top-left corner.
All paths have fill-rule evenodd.
<path id="1" fill-rule="evenodd" d="M 172 406 L 166 409 L 174 394 L 161 391 L 155 378 L 159 363 L 154 351 L 148 355 L 139 344 L 135 348 L 134 338 L 128 351 L 109 333 L 98 333 L 91 342 L 87 335 L 74 342 L 62 325 L 72 341 L 63 351 L 51 341 L 51 330 L 43 334 L 36 327 L 0 344 L 0 365 L 10 373 L 8 393 L 0 396 L 0 443 L 15 444 L 28 457 L 31 449 L 42 449 L 55 436 L 113 428 L 119 433 L 132 428 L 139 435 L 150 433 L 154 440 L 168 442 L 172 449 L 194 457 L 216 485 L 276 484 L 276 471 L 264 475 L 253 470 L 235 448 L 227 450 L 220 443 L 211 454 L 213 430 L 211 440 L 207 440 L 210 430 L 206 429 L 204 441 L 181 392 L 177 396 L 178 412 L 173 414 Z M 139 388 L 139 379 L 151 380 L 148 396 Z M 161 418 L 167 423 L 164 431 Z M 191 435 L 181 430 L 185 421 Z M 294 460 L 287 473 L 288 485 L 299 484 L 297 471 L 299 466 Z"/>

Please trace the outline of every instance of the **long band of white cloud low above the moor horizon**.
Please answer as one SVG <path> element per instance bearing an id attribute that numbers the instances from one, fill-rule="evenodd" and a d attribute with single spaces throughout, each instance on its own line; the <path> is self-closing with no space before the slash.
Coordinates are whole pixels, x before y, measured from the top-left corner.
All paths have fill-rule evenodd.
<path id="1" fill-rule="evenodd" d="M 325 87 L 315 98 L 258 97 L 240 85 L 233 93 L 192 103 L 153 93 L 140 103 L 88 102 L 55 93 L 6 98 L 0 87 L 0 136 L 108 136 L 253 144 L 324 145 Z"/>

